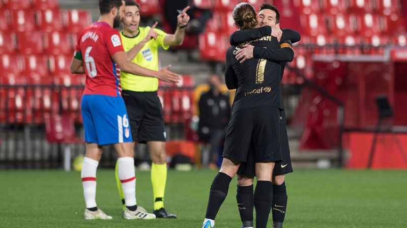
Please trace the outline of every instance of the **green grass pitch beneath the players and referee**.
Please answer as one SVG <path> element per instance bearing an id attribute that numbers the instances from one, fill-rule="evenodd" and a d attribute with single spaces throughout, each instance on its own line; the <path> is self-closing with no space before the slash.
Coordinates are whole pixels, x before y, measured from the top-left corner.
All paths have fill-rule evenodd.
<path id="1" fill-rule="evenodd" d="M 79 172 L 1 170 L 0 227 L 201 227 L 216 171 L 169 170 L 165 208 L 178 219 L 125 220 L 114 169 L 97 173 L 98 207 L 112 220 L 85 220 Z M 150 172 L 136 172 L 137 204 L 153 209 Z M 308 170 L 286 176 L 284 227 L 407 227 L 407 171 Z M 271 217 L 271 216 L 270 216 Z M 271 219 L 269 226 L 272 227 Z M 215 227 L 239 228 L 236 178 Z"/>

